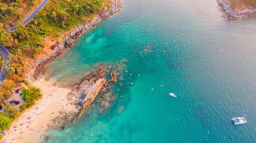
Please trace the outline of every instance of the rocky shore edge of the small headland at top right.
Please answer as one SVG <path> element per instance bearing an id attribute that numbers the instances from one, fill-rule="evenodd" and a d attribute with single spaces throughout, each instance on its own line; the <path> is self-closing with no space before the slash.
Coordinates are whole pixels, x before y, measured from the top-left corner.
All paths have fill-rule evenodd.
<path id="1" fill-rule="evenodd" d="M 228 15 L 228 19 L 230 21 L 234 19 L 238 19 L 241 17 L 247 17 L 251 15 L 256 15 L 256 8 L 246 8 L 246 9 L 241 9 L 239 11 L 234 11 L 230 4 L 226 0 L 217 0 L 218 4 L 224 12 Z"/>

